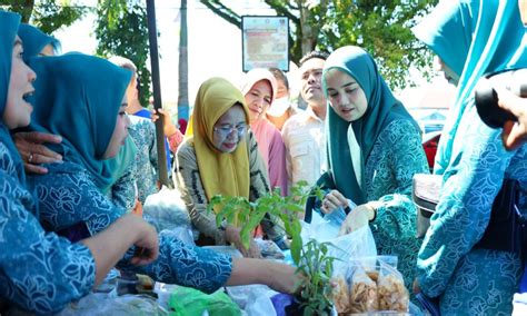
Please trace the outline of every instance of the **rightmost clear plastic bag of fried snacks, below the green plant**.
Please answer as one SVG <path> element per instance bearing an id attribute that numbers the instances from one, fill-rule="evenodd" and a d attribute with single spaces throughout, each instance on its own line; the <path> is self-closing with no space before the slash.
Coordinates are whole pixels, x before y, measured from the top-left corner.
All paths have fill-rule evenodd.
<path id="1" fill-rule="evenodd" d="M 401 278 L 380 276 L 378 280 L 379 310 L 408 312 L 408 289 Z"/>

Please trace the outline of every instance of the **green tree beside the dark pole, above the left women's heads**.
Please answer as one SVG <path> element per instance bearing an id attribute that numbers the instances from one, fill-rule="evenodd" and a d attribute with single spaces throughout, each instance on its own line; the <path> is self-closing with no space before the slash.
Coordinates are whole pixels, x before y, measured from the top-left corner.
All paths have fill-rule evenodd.
<path id="1" fill-rule="evenodd" d="M 97 4 L 96 24 L 97 55 L 106 58 L 117 55 L 133 61 L 140 83 L 140 101 L 148 106 L 151 80 L 147 69 L 149 47 L 145 4 L 136 0 L 101 0 Z"/>

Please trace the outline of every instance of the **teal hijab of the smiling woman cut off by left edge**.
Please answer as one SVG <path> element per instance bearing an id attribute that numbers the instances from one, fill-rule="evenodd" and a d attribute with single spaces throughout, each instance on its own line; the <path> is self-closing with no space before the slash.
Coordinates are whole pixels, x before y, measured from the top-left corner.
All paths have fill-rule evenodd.
<path id="1" fill-rule="evenodd" d="M 18 178 L 24 185 L 26 176 L 22 159 L 14 147 L 8 127 L 3 122 L 3 111 L 6 110 L 11 77 L 13 43 L 19 24 L 19 14 L 0 11 L 0 141 L 9 149 L 9 154 L 14 161 Z"/>

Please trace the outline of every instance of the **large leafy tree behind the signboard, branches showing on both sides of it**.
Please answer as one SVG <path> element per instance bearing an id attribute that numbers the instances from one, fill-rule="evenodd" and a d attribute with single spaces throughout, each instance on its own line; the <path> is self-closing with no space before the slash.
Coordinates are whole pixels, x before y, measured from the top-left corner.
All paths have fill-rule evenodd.
<path id="1" fill-rule="evenodd" d="M 226 21 L 241 27 L 241 17 L 220 0 L 200 0 Z M 294 62 L 314 49 L 357 45 L 370 52 L 391 88 L 405 88 L 409 68 L 429 76 L 431 53 L 412 36 L 416 19 L 437 0 L 264 0 L 291 22 L 289 55 Z"/>

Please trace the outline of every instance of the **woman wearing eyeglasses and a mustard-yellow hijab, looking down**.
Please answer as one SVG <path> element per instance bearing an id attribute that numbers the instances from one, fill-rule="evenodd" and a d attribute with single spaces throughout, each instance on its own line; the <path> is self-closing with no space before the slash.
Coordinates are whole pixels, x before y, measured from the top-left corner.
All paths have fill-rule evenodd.
<path id="1" fill-rule="evenodd" d="M 246 249 L 239 228 L 216 225 L 207 211 L 215 195 L 258 199 L 269 191 L 267 168 L 248 130 L 249 109 L 241 92 L 222 78 L 205 81 L 198 90 L 191 127 L 177 155 L 177 182 L 193 226 L 198 244 L 232 244 L 245 257 L 260 257 L 256 243 Z M 284 233 L 270 219 L 261 223 L 269 239 L 281 240 Z"/>

